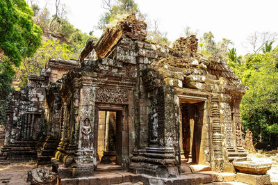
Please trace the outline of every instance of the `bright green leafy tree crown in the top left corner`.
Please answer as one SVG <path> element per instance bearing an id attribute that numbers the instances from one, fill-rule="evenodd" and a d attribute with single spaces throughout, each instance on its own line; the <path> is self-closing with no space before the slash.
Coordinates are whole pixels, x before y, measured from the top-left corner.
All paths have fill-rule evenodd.
<path id="1" fill-rule="evenodd" d="M 17 66 L 40 47 L 42 30 L 32 17 L 26 1 L 0 0 L 0 48 Z"/>

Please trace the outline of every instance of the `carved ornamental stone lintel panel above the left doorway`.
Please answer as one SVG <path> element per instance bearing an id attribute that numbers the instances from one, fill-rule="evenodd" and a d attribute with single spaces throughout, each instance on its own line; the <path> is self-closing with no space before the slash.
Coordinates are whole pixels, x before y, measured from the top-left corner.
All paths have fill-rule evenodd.
<path id="1" fill-rule="evenodd" d="M 128 104 L 129 96 L 126 90 L 97 88 L 95 101 L 103 104 Z"/>

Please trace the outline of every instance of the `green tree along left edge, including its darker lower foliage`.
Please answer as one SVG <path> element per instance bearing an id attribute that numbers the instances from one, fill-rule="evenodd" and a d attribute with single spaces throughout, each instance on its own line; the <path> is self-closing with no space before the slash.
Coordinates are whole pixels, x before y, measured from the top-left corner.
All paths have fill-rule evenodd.
<path id="1" fill-rule="evenodd" d="M 24 0 L 0 0 L 0 124 L 6 120 L 6 100 L 22 58 L 40 47 L 42 30 L 33 23 L 33 11 Z"/>

